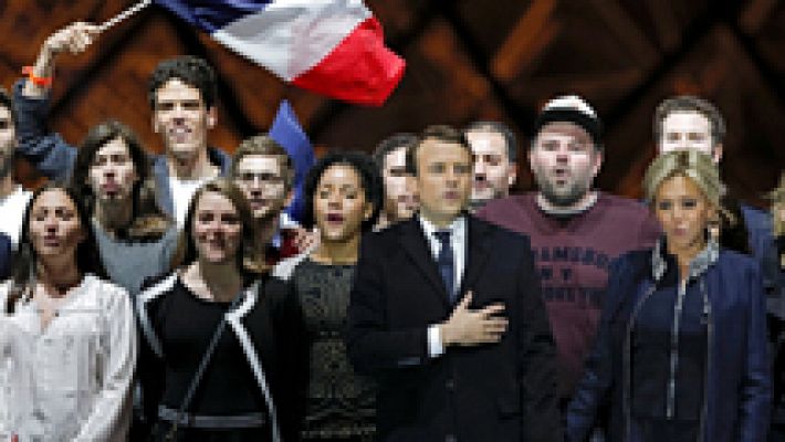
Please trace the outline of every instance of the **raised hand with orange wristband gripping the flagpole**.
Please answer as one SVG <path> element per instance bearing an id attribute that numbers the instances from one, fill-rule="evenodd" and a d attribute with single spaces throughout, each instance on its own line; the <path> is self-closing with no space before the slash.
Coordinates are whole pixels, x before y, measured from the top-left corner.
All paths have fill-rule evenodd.
<path id="1" fill-rule="evenodd" d="M 48 36 L 41 45 L 39 57 L 33 65 L 33 74 L 39 77 L 49 78 L 54 75 L 54 61 L 59 54 L 70 52 L 73 55 L 86 51 L 98 35 L 98 25 L 77 21 L 57 30 Z M 23 94 L 25 96 L 41 96 L 45 92 L 44 87 L 28 81 L 24 84 Z"/>

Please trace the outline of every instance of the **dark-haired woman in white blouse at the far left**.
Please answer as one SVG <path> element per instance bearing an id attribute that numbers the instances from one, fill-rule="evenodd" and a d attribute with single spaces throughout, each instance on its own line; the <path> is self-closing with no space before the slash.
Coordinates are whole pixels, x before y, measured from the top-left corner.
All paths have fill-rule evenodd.
<path id="1" fill-rule="evenodd" d="M 73 193 L 43 187 L 0 285 L 0 440 L 125 440 L 135 364 L 127 292 L 105 280 Z"/>

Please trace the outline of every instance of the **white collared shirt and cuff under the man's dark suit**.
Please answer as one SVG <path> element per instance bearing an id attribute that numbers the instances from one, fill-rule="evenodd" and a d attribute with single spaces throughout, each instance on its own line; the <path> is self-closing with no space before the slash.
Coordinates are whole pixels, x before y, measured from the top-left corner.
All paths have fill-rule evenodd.
<path id="1" fill-rule="evenodd" d="M 439 252 L 441 252 L 441 242 L 433 233 L 439 230 L 450 230 L 450 244 L 452 245 L 452 262 L 456 265 L 456 272 L 453 273 L 454 286 L 460 287 L 461 281 L 463 280 L 463 270 L 465 269 L 467 262 L 467 219 L 465 217 L 459 215 L 447 229 L 438 229 L 432 222 L 422 218 L 419 213 L 417 219 L 420 222 L 422 232 L 428 241 L 428 248 L 431 251 L 433 260 L 439 259 Z M 463 294 L 459 293 L 460 298 Z M 439 324 L 432 324 L 428 327 L 428 355 L 432 358 L 439 357 L 444 352 L 444 347 L 441 344 L 441 333 L 439 332 Z"/>

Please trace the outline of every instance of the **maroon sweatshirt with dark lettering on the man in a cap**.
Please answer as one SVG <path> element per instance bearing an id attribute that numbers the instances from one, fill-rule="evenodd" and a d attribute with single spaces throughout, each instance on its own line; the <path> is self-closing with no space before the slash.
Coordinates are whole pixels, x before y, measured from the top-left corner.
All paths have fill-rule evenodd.
<path id="1" fill-rule="evenodd" d="M 639 201 L 599 193 L 571 217 L 543 212 L 530 192 L 490 201 L 478 215 L 528 235 L 558 349 L 559 394 L 569 399 L 599 325 L 608 265 L 652 246 L 660 228 Z"/>

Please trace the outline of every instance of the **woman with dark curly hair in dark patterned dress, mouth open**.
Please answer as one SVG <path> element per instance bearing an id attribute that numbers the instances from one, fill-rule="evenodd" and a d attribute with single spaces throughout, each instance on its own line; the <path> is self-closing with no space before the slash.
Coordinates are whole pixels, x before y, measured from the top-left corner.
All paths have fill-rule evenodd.
<path id="1" fill-rule="evenodd" d="M 301 309 L 305 344 L 301 365 L 304 419 L 300 438 L 312 442 L 371 441 L 376 389 L 354 372 L 346 356 L 346 307 L 360 235 L 370 231 L 381 204 L 381 179 L 370 158 L 359 152 L 323 157 L 305 179 L 304 227 L 316 225 L 320 244 L 280 263 L 275 274 L 290 281 Z"/>

